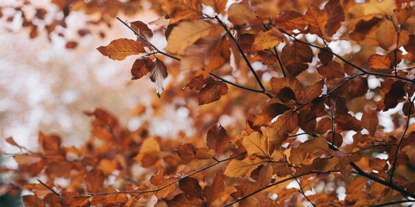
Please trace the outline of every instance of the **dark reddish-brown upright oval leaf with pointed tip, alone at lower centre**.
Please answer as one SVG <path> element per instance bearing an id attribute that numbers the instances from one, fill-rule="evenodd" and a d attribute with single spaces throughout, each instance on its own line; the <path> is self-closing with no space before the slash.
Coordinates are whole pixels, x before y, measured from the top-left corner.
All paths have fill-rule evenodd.
<path id="1" fill-rule="evenodd" d="M 225 128 L 219 123 L 212 126 L 212 128 L 207 131 L 206 143 L 207 147 L 215 150 L 216 154 L 221 154 L 229 147 L 229 136 L 227 135 Z"/>

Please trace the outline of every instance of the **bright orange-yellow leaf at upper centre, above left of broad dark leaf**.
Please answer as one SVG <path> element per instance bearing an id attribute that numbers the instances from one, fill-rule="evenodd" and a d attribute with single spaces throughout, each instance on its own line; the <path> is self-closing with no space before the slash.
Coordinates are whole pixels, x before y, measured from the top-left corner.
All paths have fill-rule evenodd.
<path id="1" fill-rule="evenodd" d="M 278 29 L 273 28 L 268 31 L 261 31 L 256 36 L 255 41 L 253 42 L 253 49 L 257 51 L 262 51 L 266 49 L 272 49 L 274 46 L 278 46 L 279 43 L 284 41 L 284 35 L 279 32 Z"/>

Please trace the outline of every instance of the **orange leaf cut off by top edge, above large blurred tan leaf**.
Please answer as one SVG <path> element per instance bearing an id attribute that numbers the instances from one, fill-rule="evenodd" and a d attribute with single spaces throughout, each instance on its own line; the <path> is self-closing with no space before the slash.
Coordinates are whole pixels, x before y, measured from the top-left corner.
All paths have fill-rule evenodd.
<path id="1" fill-rule="evenodd" d="M 202 5 L 199 0 L 164 1 L 162 10 L 171 17 L 170 23 L 173 24 L 183 19 L 199 18 L 202 14 Z"/>

